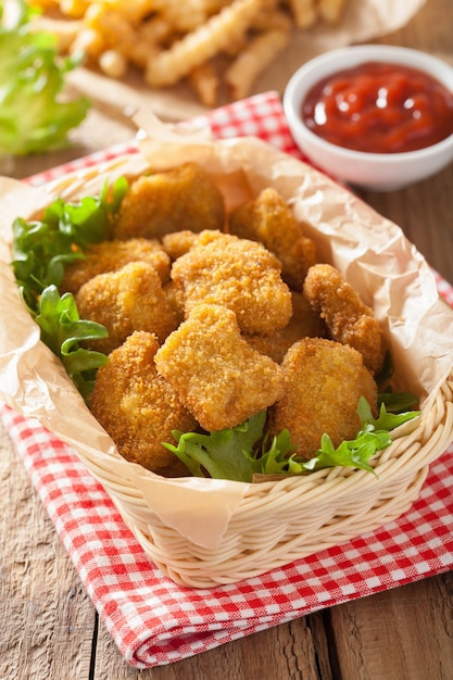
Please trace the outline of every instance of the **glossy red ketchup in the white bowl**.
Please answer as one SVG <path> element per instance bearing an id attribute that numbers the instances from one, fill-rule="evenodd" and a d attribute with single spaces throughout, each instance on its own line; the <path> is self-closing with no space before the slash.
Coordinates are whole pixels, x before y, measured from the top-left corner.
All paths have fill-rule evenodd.
<path id="1" fill-rule="evenodd" d="M 424 149 L 453 133 L 453 93 L 401 64 L 368 62 L 324 78 L 301 113 L 318 137 L 372 153 Z"/>

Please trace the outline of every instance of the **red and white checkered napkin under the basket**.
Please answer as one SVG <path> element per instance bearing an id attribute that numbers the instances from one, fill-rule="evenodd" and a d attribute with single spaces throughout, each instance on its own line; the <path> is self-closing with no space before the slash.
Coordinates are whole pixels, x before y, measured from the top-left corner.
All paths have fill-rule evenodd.
<path id="1" fill-rule="evenodd" d="M 300 158 L 274 92 L 197 123 L 209 123 L 222 137 L 257 135 Z M 128 150 L 134 149 L 133 143 Z M 95 156 L 100 160 L 105 154 Z M 90 156 L 65 165 L 30 184 L 92 162 Z M 439 276 L 438 287 L 453 303 L 453 289 Z M 431 466 L 419 500 L 398 521 L 261 577 L 199 590 L 175 584 L 147 559 L 70 446 L 7 406 L 0 416 L 93 604 L 125 659 L 137 668 L 176 662 L 453 566 L 453 446 Z"/>

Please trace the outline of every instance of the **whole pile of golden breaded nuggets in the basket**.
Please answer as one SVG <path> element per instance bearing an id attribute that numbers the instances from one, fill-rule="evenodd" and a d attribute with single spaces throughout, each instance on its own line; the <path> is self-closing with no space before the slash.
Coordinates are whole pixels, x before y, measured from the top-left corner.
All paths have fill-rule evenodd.
<path id="1" fill-rule="evenodd" d="M 377 412 L 380 326 L 275 189 L 228 212 L 197 163 L 142 175 L 85 254 L 62 290 L 109 331 L 88 343 L 109 354 L 89 406 L 126 459 L 188 475 L 163 445 L 172 430 L 263 410 L 269 435 L 288 429 L 309 459 L 324 433 L 355 437 L 361 396 Z"/>

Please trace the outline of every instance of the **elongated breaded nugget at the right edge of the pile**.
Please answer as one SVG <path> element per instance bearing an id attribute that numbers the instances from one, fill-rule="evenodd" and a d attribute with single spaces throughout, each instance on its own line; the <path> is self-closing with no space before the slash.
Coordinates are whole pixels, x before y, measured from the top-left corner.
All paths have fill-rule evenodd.
<path id="1" fill-rule="evenodd" d="M 341 274 L 329 264 L 309 269 L 303 287 L 312 307 L 325 319 L 332 340 L 357 350 L 365 366 L 376 375 L 382 367 L 383 338 L 373 310 Z"/>

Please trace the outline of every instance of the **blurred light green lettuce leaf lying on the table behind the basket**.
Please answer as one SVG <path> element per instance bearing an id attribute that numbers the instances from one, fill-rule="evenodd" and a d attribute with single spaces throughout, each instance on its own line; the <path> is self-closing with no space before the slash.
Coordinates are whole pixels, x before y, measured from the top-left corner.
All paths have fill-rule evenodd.
<path id="1" fill-rule="evenodd" d="M 86 117 L 85 97 L 65 97 L 67 72 L 77 58 L 60 58 L 56 38 L 36 30 L 37 13 L 23 0 L 13 23 L 0 1 L 0 155 L 26 155 L 67 146 L 67 133 Z"/>

